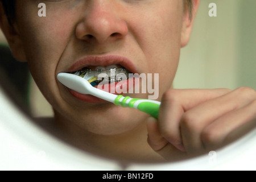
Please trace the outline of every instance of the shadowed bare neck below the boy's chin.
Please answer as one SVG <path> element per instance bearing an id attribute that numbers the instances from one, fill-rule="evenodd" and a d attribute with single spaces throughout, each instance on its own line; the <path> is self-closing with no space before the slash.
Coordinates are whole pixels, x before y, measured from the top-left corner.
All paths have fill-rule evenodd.
<path id="1" fill-rule="evenodd" d="M 144 119 L 146 121 L 146 119 Z M 98 135 L 71 124 L 55 112 L 56 128 L 60 138 L 84 151 L 105 158 L 129 162 L 163 162 L 147 143 L 146 122 L 141 122 L 135 129 L 117 135 Z"/>

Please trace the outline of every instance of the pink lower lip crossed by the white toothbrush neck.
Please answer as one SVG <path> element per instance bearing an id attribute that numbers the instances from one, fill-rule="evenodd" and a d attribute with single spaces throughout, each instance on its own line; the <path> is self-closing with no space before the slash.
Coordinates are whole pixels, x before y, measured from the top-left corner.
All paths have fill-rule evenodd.
<path id="1" fill-rule="evenodd" d="M 112 84 L 105 84 L 104 86 L 95 86 L 98 89 L 104 90 L 109 93 L 113 93 L 116 95 L 119 95 L 119 93 L 116 92 L 117 89 L 122 88 L 122 90 L 125 90 L 126 93 L 129 92 L 129 88 L 133 85 L 133 88 L 135 87 L 135 79 L 137 78 L 129 78 L 128 80 L 121 81 L 121 82 L 113 82 Z M 88 103 L 101 103 L 101 102 L 106 102 L 105 100 L 102 100 L 101 98 L 94 97 L 91 95 L 85 95 L 81 94 L 79 92 L 76 92 L 75 90 L 69 89 L 69 92 L 72 94 L 73 97 L 77 98 L 78 100 L 82 102 L 88 102 Z M 121 93 L 121 94 L 126 94 L 126 93 Z"/>

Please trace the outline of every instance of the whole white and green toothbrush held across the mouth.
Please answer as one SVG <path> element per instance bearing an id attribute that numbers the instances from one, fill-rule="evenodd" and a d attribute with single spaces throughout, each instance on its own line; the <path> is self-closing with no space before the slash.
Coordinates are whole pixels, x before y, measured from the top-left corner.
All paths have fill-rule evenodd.
<path id="1" fill-rule="evenodd" d="M 59 73 L 57 75 L 57 79 L 61 82 L 61 84 L 81 94 L 90 94 L 92 96 L 101 98 L 102 100 L 112 102 L 115 105 L 138 109 L 144 113 L 150 114 L 156 119 L 158 118 L 158 111 L 161 104 L 159 101 L 123 97 L 121 95 L 108 93 L 104 90 L 93 87 L 84 78 L 71 73 Z"/>

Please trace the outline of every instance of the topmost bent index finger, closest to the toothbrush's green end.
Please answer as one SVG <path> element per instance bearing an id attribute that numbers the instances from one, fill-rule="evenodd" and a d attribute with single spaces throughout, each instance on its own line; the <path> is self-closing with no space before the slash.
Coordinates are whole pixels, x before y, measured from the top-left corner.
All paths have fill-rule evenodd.
<path id="1" fill-rule="evenodd" d="M 230 92 L 228 89 L 168 90 L 159 109 L 159 130 L 162 136 L 181 151 L 185 151 L 180 134 L 180 119 L 185 111 Z"/>

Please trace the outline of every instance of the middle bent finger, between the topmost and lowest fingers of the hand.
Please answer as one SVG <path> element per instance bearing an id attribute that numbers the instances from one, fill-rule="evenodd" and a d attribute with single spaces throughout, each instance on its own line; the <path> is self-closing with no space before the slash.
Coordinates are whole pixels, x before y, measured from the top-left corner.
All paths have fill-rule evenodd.
<path id="1" fill-rule="evenodd" d="M 201 141 L 201 133 L 205 127 L 215 122 L 222 115 L 246 106 L 255 98 L 254 90 L 240 88 L 187 111 L 183 115 L 180 124 L 186 150 L 188 152 L 203 150 L 204 144 Z"/>

